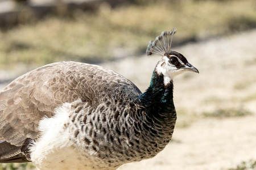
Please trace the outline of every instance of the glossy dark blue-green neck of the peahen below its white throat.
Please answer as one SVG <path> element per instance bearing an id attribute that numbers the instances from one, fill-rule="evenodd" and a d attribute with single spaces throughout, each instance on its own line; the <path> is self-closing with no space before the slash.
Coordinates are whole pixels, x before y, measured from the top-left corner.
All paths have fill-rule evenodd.
<path id="1" fill-rule="evenodd" d="M 158 122 L 165 130 L 175 125 L 176 111 L 173 100 L 173 82 L 164 84 L 163 74 L 153 72 L 150 86 L 135 99 L 142 108 L 146 109 L 146 116 Z"/>

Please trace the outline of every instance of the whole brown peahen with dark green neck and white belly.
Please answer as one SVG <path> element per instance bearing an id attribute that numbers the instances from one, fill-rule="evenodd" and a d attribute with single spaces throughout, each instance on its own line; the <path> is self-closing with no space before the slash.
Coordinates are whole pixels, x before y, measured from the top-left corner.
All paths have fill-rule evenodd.
<path id="1" fill-rule="evenodd" d="M 80 62 L 51 63 L 15 79 L 0 92 L 0 162 L 117 169 L 154 157 L 174 132 L 172 79 L 198 73 L 170 45 L 163 50 L 143 94 L 122 75 Z"/>

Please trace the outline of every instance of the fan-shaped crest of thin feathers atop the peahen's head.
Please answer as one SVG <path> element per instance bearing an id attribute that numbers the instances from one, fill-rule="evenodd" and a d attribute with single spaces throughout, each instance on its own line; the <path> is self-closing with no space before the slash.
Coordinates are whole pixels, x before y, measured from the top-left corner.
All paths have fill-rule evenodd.
<path id="1" fill-rule="evenodd" d="M 164 54 L 171 49 L 172 45 L 172 36 L 176 32 L 176 28 L 173 28 L 172 31 L 164 31 L 160 36 L 156 37 L 155 41 L 150 41 L 147 46 L 147 56 L 152 54 L 164 56 Z"/>

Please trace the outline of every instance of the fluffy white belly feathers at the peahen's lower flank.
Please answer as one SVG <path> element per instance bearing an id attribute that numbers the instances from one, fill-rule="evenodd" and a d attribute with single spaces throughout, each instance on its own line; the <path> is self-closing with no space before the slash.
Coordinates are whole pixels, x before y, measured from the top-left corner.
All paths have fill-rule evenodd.
<path id="1" fill-rule="evenodd" d="M 55 113 L 54 117 L 44 118 L 39 123 L 42 136 L 31 146 L 32 163 L 38 169 L 94 169 L 98 158 L 79 151 L 65 127 L 72 113 L 71 104 L 63 104 Z"/>

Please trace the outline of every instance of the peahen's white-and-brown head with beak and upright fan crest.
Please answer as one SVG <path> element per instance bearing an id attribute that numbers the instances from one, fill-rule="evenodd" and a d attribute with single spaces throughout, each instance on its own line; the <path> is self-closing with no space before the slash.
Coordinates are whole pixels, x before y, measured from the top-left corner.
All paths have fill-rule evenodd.
<path id="1" fill-rule="evenodd" d="M 155 67 L 156 73 L 163 74 L 164 84 L 168 84 L 175 76 L 186 71 L 199 73 L 196 67 L 192 66 L 187 59 L 180 53 L 170 50 L 172 37 L 176 28 L 172 31 L 164 31 L 155 41 L 150 41 L 147 47 L 147 56 L 156 54 L 162 56 Z"/>

